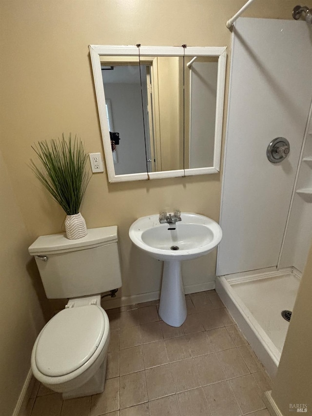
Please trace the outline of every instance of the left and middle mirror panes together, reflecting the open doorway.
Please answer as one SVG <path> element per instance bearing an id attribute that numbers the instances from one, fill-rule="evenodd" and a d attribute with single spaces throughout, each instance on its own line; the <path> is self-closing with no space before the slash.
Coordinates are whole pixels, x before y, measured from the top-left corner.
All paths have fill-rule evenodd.
<path id="1" fill-rule="evenodd" d="M 107 119 L 120 137 L 113 151 L 115 174 L 182 169 L 182 58 L 106 59 L 101 69 Z"/>

